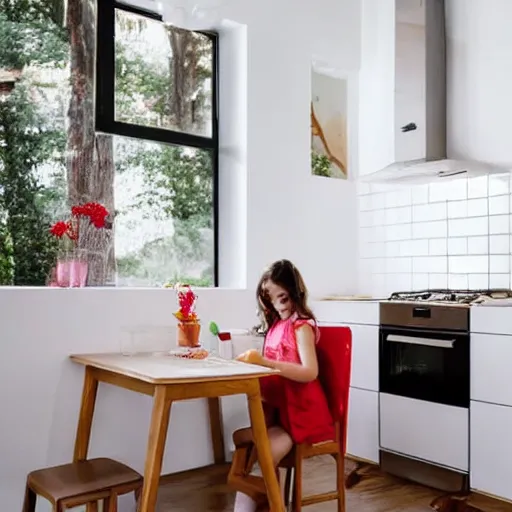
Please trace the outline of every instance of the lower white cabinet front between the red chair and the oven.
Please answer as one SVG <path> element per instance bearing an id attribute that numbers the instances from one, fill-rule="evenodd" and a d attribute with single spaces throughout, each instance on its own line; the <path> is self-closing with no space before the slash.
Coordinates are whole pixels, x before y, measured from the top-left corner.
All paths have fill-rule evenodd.
<path id="1" fill-rule="evenodd" d="M 379 463 L 379 394 L 350 389 L 347 453 Z"/>

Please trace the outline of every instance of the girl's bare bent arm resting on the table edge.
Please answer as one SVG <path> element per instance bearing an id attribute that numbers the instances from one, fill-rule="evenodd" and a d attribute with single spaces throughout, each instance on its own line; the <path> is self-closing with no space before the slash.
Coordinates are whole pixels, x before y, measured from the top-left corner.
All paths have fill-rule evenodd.
<path id="1" fill-rule="evenodd" d="M 313 328 L 304 324 L 295 330 L 297 349 L 300 363 L 286 363 L 271 361 L 263 357 L 261 364 L 279 370 L 283 377 L 296 382 L 311 382 L 318 377 L 318 359 L 316 357 L 315 332 Z"/>

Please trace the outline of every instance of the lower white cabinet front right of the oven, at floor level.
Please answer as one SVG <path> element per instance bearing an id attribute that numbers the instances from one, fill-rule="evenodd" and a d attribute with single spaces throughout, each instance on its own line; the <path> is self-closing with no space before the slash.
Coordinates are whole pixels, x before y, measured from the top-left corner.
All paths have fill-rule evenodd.
<path id="1" fill-rule="evenodd" d="M 471 488 L 512 500 L 512 408 L 471 402 Z"/>

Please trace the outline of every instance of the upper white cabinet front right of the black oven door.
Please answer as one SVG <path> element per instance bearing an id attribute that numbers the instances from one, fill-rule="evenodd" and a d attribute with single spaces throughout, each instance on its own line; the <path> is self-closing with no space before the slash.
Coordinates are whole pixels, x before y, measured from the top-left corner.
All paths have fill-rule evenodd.
<path id="1" fill-rule="evenodd" d="M 471 335 L 471 399 L 512 406 L 512 336 Z"/>

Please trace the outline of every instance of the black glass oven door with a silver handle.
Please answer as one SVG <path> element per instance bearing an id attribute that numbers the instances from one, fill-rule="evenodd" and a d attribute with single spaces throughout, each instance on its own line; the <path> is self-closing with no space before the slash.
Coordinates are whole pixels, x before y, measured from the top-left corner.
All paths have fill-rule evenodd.
<path id="1" fill-rule="evenodd" d="M 469 407 L 469 333 L 381 326 L 379 390 Z"/>

